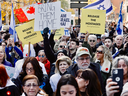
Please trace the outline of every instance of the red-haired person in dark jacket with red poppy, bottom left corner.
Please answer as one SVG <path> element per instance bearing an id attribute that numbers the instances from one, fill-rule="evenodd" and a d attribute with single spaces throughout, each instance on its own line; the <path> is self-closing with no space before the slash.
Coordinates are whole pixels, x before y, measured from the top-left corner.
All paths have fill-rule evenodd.
<path id="1" fill-rule="evenodd" d="M 11 81 L 2 64 L 0 64 L 0 96 L 20 96 L 18 88 Z"/>

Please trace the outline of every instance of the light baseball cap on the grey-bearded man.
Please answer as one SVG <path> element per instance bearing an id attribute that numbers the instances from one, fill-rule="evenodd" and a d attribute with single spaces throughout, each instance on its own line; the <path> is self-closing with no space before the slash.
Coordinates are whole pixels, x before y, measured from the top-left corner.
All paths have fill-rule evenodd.
<path id="1" fill-rule="evenodd" d="M 89 53 L 89 50 L 86 47 L 79 47 L 76 52 L 76 58 L 84 54 L 87 54 L 90 57 L 92 57 Z"/>

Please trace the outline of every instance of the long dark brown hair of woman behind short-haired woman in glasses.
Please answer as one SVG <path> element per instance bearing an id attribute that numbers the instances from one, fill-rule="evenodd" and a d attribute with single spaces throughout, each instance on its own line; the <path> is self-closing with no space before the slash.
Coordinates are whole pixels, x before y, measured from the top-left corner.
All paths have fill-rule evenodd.
<path id="1" fill-rule="evenodd" d="M 23 77 L 27 75 L 27 73 L 26 73 L 26 65 L 28 63 L 32 64 L 33 69 L 35 71 L 34 75 L 36 75 L 38 77 L 39 81 L 41 82 L 42 78 L 43 78 L 43 71 L 42 71 L 42 68 L 39 65 L 39 62 L 37 61 L 37 59 L 35 57 L 27 57 L 26 58 L 23 66 L 22 66 L 22 71 L 21 71 L 20 75 L 23 76 Z"/>

